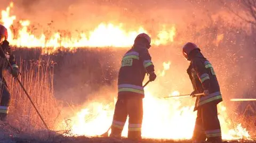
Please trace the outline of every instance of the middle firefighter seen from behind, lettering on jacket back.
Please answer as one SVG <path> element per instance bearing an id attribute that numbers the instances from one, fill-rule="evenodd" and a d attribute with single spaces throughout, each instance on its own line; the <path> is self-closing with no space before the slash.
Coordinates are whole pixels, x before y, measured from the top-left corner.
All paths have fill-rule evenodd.
<path id="1" fill-rule="evenodd" d="M 121 137 L 129 115 L 127 137 L 141 139 L 144 98 L 142 82 L 146 74 L 149 74 L 149 81 L 156 79 L 154 65 L 148 52 L 150 43 L 151 38 L 146 33 L 140 33 L 135 38 L 132 48 L 122 58 L 122 66 L 118 73 L 118 98 L 110 137 Z"/>

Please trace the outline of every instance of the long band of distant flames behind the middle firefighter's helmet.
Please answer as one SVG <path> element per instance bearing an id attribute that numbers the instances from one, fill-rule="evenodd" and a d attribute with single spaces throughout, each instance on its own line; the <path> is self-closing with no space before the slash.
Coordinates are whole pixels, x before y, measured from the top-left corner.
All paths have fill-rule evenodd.
<path id="1" fill-rule="evenodd" d="M 59 47 L 77 48 L 77 47 L 130 47 L 133 45 L 135 37 L 141 33 L 146 32 L 144 28 L 140 27 L 138 30 L 125 31 L 122 28 L 122 23 L 114 25 L 112 23 L 100 23 L 97 28 L 89 33 L 79 33 L 76 37 L 62 36 L 59 32 L 53 33 L 49 39 L 42 33 L 39 37 L 33 35 L 28 31 L 30 25 L 29 20 L 19 21 L 21 29 L 18 30 L 17 38 L 14 38 L 10 27 L 16 19 L 15 15 L 10 16 L 10 10 L 13 7 L 13 2 L 2 11 L 2 23 L 8 29 L 9 42 L 13 46 L 18 47 L 42 47 L 53 48 L 51 52 Z M 150 35 L 150 33 L 149 33 Z M 175 27 L 165 29 L 157 33 L 157 38 L 152 39 L 153 45 L 168 44 L 173 42 L 175 36 Z M 48 51 L 49 52 L 49 51 Z"/>

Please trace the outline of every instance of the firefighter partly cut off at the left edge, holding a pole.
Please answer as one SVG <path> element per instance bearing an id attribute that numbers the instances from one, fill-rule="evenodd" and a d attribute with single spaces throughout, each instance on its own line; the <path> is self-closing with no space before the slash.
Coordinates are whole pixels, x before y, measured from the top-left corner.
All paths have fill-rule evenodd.
<path id="1" fill-rule="evenodd" d="M 14 56 L 11 54 L 11 48 L 9 46 L 9 42 L 7 41 L 8 38 L 8 32 L 7 29 L 0 24 L 0 120 L 5 121 L 9 105 L 10 105 L 10 92 L 7 90 L 7 84 L 5 82 L 5 79 L 3 77 L 3 70 L 9 69 L 10 73 L 13 75 L 13 77 L 18 77 L 19 75 L 19 69 L 18 65 L 15 62 Z M 11 63 L 12 69 L 9 67 L 9 64 L 6 61 L 7 60 Z"/>

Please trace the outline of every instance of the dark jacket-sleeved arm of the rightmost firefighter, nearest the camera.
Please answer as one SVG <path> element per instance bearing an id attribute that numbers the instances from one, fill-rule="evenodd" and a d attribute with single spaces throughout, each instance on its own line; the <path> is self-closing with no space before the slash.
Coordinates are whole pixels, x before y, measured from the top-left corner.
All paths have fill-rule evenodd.
<path id="1" fill-rule="evenodd" d="M 197 77 L 200 79 L 204 90 L 209 90 L 210 88 L 210 76 L 207 73 L 207 70 L 205 68 L 204 63 L 202 63 L 201 61 L 193 61 L 193 66 L 195 67 L 196 73 L 197 73 Z"/>

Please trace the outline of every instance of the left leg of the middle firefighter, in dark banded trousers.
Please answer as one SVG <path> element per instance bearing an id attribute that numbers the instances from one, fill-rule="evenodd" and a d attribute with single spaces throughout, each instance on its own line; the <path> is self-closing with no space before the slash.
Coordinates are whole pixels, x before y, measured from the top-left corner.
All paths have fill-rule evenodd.
<path id="1" fill-rule="evenodd" d="M 118 98 L 115 106 L 110 137 L 120 138 L 127 119 L 126 99 Z"/>

